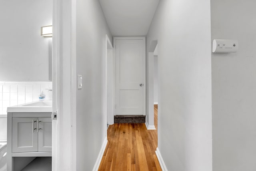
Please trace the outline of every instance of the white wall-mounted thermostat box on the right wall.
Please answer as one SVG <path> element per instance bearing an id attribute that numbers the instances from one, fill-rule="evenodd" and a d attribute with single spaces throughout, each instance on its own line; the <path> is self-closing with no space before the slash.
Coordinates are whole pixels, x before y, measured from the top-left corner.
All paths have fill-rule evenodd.
<path id="1" fill-rule="evenodd" d="M 218 39 L 212 42 L 212 52 L 230 53 L 238 51 L 238 40 Z"/>

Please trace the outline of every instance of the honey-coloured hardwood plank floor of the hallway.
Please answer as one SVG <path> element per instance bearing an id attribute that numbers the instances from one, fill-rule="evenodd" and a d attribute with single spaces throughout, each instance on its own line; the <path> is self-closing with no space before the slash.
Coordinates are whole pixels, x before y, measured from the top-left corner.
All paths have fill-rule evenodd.
<path id="1" fill-rule="evenodd" d="M 156 128 L 157 110 L 154 105 Z M 157 131 L 147 130 L 144 123 L 110 125 L 99 171 L 161 171 L 156 147 Z"/>

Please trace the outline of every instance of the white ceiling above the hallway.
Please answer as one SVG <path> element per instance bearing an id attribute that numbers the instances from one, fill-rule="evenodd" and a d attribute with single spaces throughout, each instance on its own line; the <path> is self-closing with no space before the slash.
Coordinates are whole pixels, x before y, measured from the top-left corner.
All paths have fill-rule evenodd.
<path id="1" fill-rule="evenodd" d="M 113 36 L 146 36 L 159 0 L 100 0 Z"/>

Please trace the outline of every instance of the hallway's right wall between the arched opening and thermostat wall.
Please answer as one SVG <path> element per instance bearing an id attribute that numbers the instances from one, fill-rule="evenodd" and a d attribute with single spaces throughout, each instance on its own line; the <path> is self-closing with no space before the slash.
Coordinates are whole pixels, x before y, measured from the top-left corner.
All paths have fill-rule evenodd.
<path id="1" fill-rule="evenodd" d="M 170 171 L 212 170 L 210 35 L 210 0 L 160 0 L 146 40 L 147 54 L 158 40 L 158 148 Z"/>

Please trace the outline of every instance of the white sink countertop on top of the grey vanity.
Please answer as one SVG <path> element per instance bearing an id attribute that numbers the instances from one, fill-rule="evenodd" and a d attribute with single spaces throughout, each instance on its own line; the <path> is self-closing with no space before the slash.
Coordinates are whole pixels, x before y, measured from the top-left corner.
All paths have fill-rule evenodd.
<path id="1" fill-rule="evenodd" d="M 7 112 L 52 112 L 52 101 L 34 101 L 7 108 Z"/>

